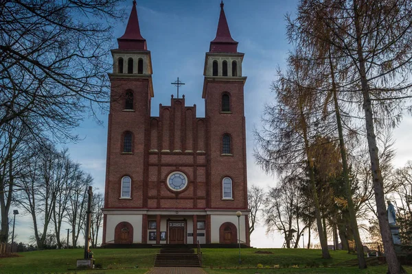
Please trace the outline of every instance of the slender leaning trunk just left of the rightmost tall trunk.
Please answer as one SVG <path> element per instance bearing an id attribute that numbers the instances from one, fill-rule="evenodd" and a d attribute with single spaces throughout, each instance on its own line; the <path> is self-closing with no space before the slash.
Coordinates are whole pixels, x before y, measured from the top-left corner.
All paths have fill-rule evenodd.
<path id="1" fill-rule="evenodd" d="M 334 99 L 334 109 L 335 109 L 335 114 L 336 114 L 336 122 L 338 125 L 338 132 L 339 132 L 339 147 L 341 148 L 343 179 L 345 181 L 345 189 L 346 189 L 347 210 L 349 211 L 350 226 L 352 227 L 352 232 L 354 233 L 354 239 L 356 243 L 356 252 L 358 254 L 358 266 L 359 266 L 359 269 L 366 269 L 367 265 L 366 265 L 366 260 L 365 260 L 365 254 L 363 253 L 363 244 L 361 241 L 361 235 L 359 235 L 358 222 L 356 221 L 355 206 L 354 206 L 354 201 L 352 200 L 352 188 L 350 187 L 349 170 L 347 168 L 346 147 L 345 147 L 345 141 L 343 140 L 343 127 L 342 127 L 342 121 L 341 121 L 341 112 L 339 112 L 338 95 L 336 93 L 336 84 L 334 81 L 334 69 L 332 65 L 330 51 L 329 51 L 329 62 L 330 62 L 330 74 L 332 77 L 332 92 L 333 92 L 333 99 Z"/>

